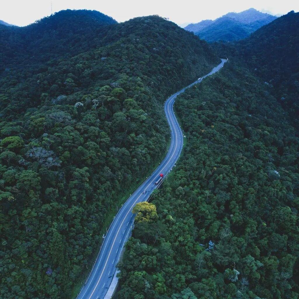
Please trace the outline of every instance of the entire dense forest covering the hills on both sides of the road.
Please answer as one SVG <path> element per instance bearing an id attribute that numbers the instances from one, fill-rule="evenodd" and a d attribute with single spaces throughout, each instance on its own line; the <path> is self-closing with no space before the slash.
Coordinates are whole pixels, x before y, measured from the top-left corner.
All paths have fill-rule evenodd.
<path id="1" fill-rule="evenodd" d="M 69 298 L 162 159 L 164 100 L 227 56 L 176 100 L 184 155 L 134 209 L 115 297 L 299 299 L 298 18 L 213 45 L 158 16 L 0 24 L 0 298 Z"/>

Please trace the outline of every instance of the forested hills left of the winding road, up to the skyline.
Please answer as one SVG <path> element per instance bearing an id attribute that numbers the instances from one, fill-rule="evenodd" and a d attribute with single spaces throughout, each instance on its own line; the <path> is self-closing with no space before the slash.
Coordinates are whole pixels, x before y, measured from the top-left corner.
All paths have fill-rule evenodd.
<path id="1" fill-rule="evenodd" d="M 69 298 L 122 190 L 162 158 L 167 95 L 220 61 L 158 16 L 102 17 L 0 26 L 1 299 Z"/>

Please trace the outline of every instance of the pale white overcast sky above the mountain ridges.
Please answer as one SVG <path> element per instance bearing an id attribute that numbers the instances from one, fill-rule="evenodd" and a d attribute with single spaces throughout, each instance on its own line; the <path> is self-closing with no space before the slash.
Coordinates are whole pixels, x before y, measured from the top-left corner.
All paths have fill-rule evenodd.
<path id="1" fill-rule="evenodd" d="M 216 19 L 225 13 L 240 12 L 250 7 L 271 14 L 285 14 L 299 10 L 298 0 L 1 0 L 0 20 L 25 26 L 63 9 L 98 10 L 123 22 L 137 16 L 159 15 L 179 25 Z"/>

